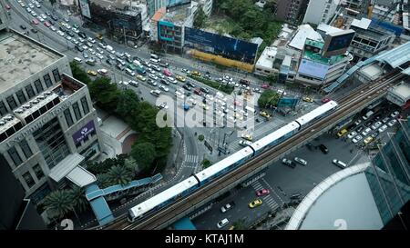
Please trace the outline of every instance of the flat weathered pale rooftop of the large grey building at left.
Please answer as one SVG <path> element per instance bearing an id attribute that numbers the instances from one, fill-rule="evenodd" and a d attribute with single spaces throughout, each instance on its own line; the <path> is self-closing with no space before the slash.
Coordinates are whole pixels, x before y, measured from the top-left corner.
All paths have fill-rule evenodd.
<path id="1" fill-rule="evenodd" d="M 64 55 L 59 55 L 23 35 L 0 35 L 0 93 L 42 71 Z"/>

